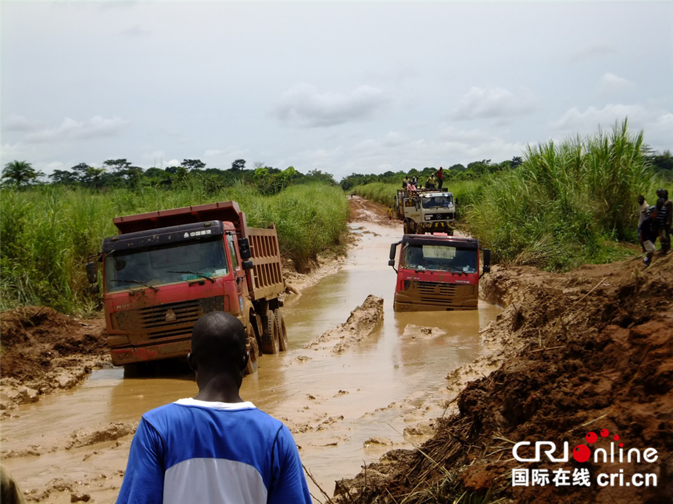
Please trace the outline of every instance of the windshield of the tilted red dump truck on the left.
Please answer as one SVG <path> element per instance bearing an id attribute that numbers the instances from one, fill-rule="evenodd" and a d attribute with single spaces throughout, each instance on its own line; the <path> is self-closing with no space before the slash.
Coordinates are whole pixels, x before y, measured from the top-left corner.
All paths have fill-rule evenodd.
<path id="1" fill-rule="evenodd" d="M 112 251 L 105 258 L 106 292 L 156 287 L 229 273 L 221 236 Z"/>

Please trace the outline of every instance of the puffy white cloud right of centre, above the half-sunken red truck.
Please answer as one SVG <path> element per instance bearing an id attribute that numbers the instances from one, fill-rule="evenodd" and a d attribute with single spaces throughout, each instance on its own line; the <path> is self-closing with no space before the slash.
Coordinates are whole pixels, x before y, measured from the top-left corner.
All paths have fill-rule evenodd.
<path id="1" fill-rule="evenodd" d="M 528 91 L 515 96 L 504 88 L 470 88 L 451 112 L 456 120 L 491 119 L 507 120 L 519 115 L 533 113 L 536 110 L 535 99 Z"/>

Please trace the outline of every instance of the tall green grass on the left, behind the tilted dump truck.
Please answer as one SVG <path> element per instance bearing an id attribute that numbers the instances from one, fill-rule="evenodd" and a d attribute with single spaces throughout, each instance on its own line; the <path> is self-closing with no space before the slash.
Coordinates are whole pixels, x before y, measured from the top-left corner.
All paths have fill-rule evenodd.
<path id="1" fill-rule="evenodd" d="M 317 253 L 345 246 L 348 201 L 340 188 L 323 184 L 290 187 L 267 197 L 237 185 L 219 191 L 186 183 L 170 191 L 71 190 L 46 186 L 0 192 L 0 308 L 24 304 L 66 313 L 94 309 L 84 264 L 106 236 L 112 218 L 188 205 L 236 200 L 253 227 L 276 223 L 283 256 L 298 270 Z"/>

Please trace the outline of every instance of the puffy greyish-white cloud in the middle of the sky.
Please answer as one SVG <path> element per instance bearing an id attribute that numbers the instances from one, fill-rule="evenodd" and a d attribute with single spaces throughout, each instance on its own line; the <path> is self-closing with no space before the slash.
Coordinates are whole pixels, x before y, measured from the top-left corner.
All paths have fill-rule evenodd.
<path id="1" fill-rule="evenodd" d="M 300 127 L 326 127 L 370 118 L 387 101 L 383 91 L 371 86 L 344 94 L 319 93 L 311 84 L 298 84 L 283 93 L 273 115 Z"/>

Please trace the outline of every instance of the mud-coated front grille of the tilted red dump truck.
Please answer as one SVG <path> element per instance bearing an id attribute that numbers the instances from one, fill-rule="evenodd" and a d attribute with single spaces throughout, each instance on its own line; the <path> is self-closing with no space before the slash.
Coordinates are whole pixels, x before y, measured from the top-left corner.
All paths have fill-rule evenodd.
<path id="1" fill-rule="evenodd" d="M 228 304 L 228 303 L 227 303 Z M 115 313 L 118 328 L 128 331 L 131 340 L 156 340 L 191 334 L 200 316 L 210 311 L 222 311 L 222 296 L 190 299 L 177 303 L 157 304 Z M 134 337 L 135 336 L 135 337 Z M 135 343 L 135 341 L 132 341 Z M 140 342 L 138 342 L 140 343 Z"/>

